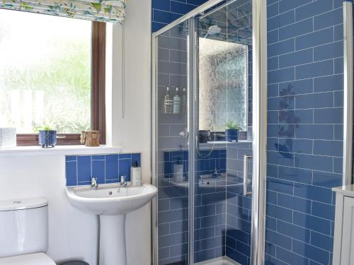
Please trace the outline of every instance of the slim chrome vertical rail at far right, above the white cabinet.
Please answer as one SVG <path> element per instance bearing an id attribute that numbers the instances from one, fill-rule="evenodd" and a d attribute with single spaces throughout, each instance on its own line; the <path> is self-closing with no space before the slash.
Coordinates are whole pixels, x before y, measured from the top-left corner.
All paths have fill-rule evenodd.
<path id="1" fill-rule="evenodd" d="M 353 144 L 353 4 L 343 2 L 343 185 L 352 184 Z"/>

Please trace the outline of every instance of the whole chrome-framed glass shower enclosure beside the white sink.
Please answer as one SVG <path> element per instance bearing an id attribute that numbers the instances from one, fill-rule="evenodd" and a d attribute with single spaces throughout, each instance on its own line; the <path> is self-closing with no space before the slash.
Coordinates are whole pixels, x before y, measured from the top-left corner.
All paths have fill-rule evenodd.
<path id="1" fill-rule="evenodd" d="M 264 21 L 211 0 L 153 35 L 156 265 L 264 262 Z"/>

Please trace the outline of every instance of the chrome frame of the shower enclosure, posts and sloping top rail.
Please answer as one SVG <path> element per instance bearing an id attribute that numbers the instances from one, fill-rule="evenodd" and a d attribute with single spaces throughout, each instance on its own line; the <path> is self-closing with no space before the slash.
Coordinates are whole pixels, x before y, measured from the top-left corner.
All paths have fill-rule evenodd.
<path id="1" fill-rule="evenodd" d="M 185 16 L 178 18 L 161 30 L 152 34 L 152 184 L 158 186 L 158 106 L 159 98 L 157 95 L 157 55 L 158 55 L 158 37 L 167 30 L 183 23 L 185 20 L 190 22 L 190 36 L 188 46 L 192 51 L 188 53 L 188 170 L 189 179 L 189 264 L 194 264 L 194 172 L 195 172 L 195 146 L 197 144 L 197 134 L 195 127 L 195 100 L 196 86 L 194 73 L 197 71 L 197 49 L 194 49 L 196 40 L 195 16 L 207 11 L 216 4 L 224 0 L 210 0 L 195 8 Z M 232 1 L 229 1 L 231 3 Z M 228 3 L 228 4 L 229 4 Z M 267 15 L 266 2 L 263 0 L 252 0 L 253 16 L 253 176 L 252 176 L 252 224 L 251 224 L 251 264 L 263 265 L 265 254 L 265 179 L 266 179 L 266 142 L 267 142 Z M 190 122 L 192 124 L 190 124 Z M 152 201 L 152 264 L 159 264 L 159 245 L 158 245 L 158 196 Z"/>

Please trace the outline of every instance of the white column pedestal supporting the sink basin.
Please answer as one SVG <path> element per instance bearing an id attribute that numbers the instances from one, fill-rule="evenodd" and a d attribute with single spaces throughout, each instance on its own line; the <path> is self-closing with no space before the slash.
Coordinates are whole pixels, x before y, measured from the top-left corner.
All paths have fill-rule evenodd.
<path id="1" fill-rule="evenodd" d="M 100 216 L 100 265 L 126 265 L 125 214 Z"/>

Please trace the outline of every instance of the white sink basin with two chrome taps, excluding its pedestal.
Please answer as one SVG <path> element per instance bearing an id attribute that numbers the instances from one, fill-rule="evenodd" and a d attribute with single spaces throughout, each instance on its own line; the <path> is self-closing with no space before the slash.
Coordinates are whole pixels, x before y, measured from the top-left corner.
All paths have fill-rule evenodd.
<path id="1" fill-rule="evenodd" d="M 98 189 L 90 186 L 67 187 L 72 206 L 98 216 L 116 216 L 142 208 L 154 198 L 157 188 L 151 184 L 140 187 L 120 187 L 120 184 L 101 184 Z"/>

